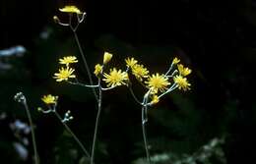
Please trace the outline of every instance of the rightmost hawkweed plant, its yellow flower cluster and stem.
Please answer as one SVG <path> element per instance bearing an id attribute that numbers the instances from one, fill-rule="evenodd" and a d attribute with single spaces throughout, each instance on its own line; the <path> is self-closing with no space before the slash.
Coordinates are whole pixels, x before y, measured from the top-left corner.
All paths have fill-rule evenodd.
<path id="1" fill-rule="evenodd" d="M 147 161 L 151 164 L 151 157 L 148 145 L 148 138 L 146 133 L 146 123 L 148 122 L 148 110 L 149 107 L 160 102 L 160 98 L 167 93 L 173 91 L 174 89 L 182 89 L 184 91 L 190 89 L 190 83 L 185 78 L 191 74 L 189 68 L 185 68 L 182 64 L 178 64 L 180 60 L 174 58 L 170 64 L 170 67 L 164 74 L 156 73 L 150 76 L 148 69 L 134 58 L 125 59 L 126 62 L 126 72 L 132 74 L 138 82 L 140 82 L 143 87 L 146 88 L 146 93 L 144 94 L 142 101 L 135 95 L 132 89 L 132 83 L 129 82 L 129 90 L 135 99 L 135 101 L 142 107 L 142 133 L 144 139 L 144 146 L 147 155 Z"/>

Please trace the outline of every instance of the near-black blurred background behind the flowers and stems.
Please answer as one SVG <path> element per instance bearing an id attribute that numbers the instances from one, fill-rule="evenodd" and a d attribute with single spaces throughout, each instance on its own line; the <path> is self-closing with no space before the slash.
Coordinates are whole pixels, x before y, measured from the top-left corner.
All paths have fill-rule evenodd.
<path id="1" fill-rule="evenodd" d="M 52 79 L 58 58 L 76 55 L 80 60 L 72 32 L 52 20 L 54 15 L 65 19 L 58 8 L 67 3 L 87 12 L 78 35 L 91 70 L 104 51 L 114 54 L 109 65 L 118 68 L 124 69 L 124 59 L 133 56 L 151 73 L 163 73 L 177 56 L 193 70 L 190 91 L 170 93 L 149 113 L 152 154 L 192 154 L 210 139 L 224 137 L 226 163 L 256 163 L 254 0 L 1 0 L 0 49 L 23 45 L 27 53 L 22 58 L 0 57 L 13 66 L 0 70 L 0 113 L 7 115 L 0 120 L 0 163 L 32 163 L 31 154 L 21 160 L 12 144 L 17 137 L 10 123 L 28 123 L 23 106 L 13 100 L 18 91 L 31 107 L 41 163 L 78 163 L 83 155 L 54 116 L 36 111 L 43 107 L 43 94 L 59 95 L 59 112 L 72 111 L 71 129 L 91 147 L 96 118 L 92 91 Z M 47 38 L 41 37 L 43 32 Z M 82 63 L 76 71 L 87 82 Z M 142 96 L 145 90 L 135 88 Z M 145 156 L 140 114 L 125 86 L 104 93 L 96 163 L 128 164 Z M 31 144 L 28 148 L 32 152 Z"/>

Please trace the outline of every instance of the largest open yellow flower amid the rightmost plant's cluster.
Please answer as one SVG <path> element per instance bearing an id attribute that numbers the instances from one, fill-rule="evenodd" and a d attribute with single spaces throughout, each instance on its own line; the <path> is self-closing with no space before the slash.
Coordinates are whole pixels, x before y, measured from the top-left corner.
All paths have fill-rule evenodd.
<path id="1" fill-rule="evenodd" d="M 158 93 L 159 90 L 164 91 L 164 89 L 167 88 L 167 85 L 170 84 L 170 82 L 168 82 L 168 78 L 164 77 L 164 75 L 160 75 L 159 73 L 152 75 L 146 83 L 148 83 L 148 86 L 152 89 L 153 93 Z"/>

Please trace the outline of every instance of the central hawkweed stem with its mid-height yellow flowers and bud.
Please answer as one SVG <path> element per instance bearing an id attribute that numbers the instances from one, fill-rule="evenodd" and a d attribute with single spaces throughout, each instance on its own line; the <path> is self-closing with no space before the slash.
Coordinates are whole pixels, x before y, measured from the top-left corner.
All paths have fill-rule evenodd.
<path id="1" fill-rule="evenodd" d="M 116 68 L 110 69 L 109 74 L 104 73 L 104 67 L 112 59 L 112 54 L 104 52 L 103 60 L 101 64 L 96 64 L 95 66 L 95 76 L 97 79 L 96 84 L 86 84 L 84 82 L 79 82 L 75 75 L 75 69 L 71 67 L 71 64 L 77 63 L 78 60 L 75 56 L 66 56 L 59 59 L 59 64 L 61 66 L 58 73 L 54 74 L 54 79 L 56 82 L 68 82 L 70 84 L 80 85 L 84 87 L 96 88 L 97 89 L 97 114 L 96 114 L 96 126 L 93 138 L 92 152 L 91 152 L 91 164 L 94 164 L 95 160 L 95 150 L 96 150 L 96 137 L 99 124 L 99 117 L 101 113 L 102 105 L 102 91 L 110 90 L 119 85 L 125 85 L 128 83 L 128 74 L 122 70 Z M 104 83 L 102 83 L 104 82 Z M 105 85 L 105 86 L 104 86 Z M 55 105 L 54 105 L 55 106 Z M 55 110 L 50 109 L 52 112 Z M 48 113 L 48 111 L 46 111 Z M 45 113 L 45 111 L 44 111 Z"/>

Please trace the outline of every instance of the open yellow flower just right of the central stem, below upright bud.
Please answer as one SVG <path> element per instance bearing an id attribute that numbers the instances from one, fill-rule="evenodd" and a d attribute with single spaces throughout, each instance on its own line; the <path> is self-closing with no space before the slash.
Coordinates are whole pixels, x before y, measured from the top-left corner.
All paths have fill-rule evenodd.
<path id="1" fill-rule="evenodd" d="M 122 85 L 126 84 L 125 81 L 128 81 L 128 75 L 126 72 L 122 72 L 121 70 L 116 70 L 115 68 L 110 70 L 109 75 L 104 74 L 103 81 L 107 83 L 107 86 L 117 86 L 117 85 Z"/>

